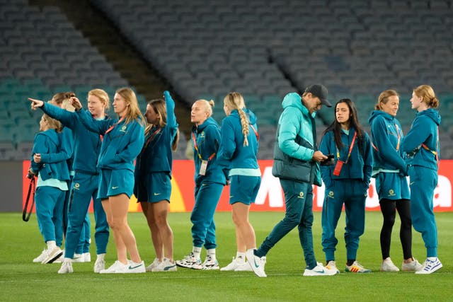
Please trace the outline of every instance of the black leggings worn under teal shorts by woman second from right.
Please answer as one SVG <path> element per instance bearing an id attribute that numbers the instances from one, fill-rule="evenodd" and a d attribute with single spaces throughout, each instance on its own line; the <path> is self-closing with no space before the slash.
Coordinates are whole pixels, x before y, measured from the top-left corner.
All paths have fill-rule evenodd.
<path id="1" fill-rule="evenodd" d="M 412 257 L 412 221 L 411 221 L 411 203 L 408 199 L 381 199 L 382 216 L 384 223 L 381 229 L 381 250 L 382 259 L 390 257 L 391 230 L 394 227 L 396 211 L 401 219 L 401 228 L 399 238 L 403 246 L 403 257 L 409 259 Z"/>

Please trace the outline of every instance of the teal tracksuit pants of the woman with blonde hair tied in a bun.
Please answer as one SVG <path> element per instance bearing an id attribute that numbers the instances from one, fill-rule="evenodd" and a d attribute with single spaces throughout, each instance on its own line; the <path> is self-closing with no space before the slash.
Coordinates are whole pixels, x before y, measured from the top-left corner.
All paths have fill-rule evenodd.
<path id="1" fill-rule="evenodd" d="M 197 248 L 202 245 L 205 245 L 207 250 L 217 247 L 214 213 L 223 188 L 224 185 L 216 182 L 201 182 L 195 187 L 195 207 L 190 221 L 193 223 L 193 246 Z"/>

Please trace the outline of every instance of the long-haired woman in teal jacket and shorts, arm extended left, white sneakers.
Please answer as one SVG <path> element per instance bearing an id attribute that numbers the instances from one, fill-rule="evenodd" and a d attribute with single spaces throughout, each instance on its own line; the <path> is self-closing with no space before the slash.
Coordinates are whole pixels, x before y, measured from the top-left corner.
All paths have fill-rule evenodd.
<path id="1" fill-rule="evenodd" d="M 144 262 L 127 223 L 127 210 L 134 189 L 134 160 L 144 143 L 144 117 L 137 96 L 130 88 L 117 89 L 113 100 L 113 110 L 118 115 L 115 120 L 94 120 L 90 112 L 81 110 L 77 98 L 71 98 L 71 102 L 85 127 L 103 137 L 98 157 L 98 198 L 113 231 L 118 260 L 100 273 L 144 273 Z"/>

